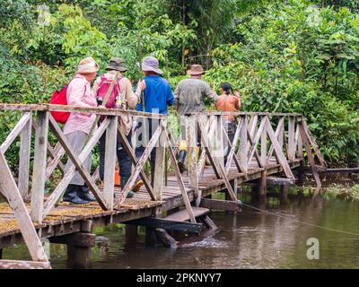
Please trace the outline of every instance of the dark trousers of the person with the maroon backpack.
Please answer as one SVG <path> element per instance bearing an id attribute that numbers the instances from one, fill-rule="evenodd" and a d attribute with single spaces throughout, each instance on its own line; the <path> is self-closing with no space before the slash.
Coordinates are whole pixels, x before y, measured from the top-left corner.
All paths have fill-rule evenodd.
<path id="1" fill-rule="evenodd" d="M 127 135 L 127 141 L 131 144 L 131 132 Z M 106 132 L 100 138 L 99 152 L 100 152 L 100 178 L 103 180 L 105 171 L 105 147 L 106 147 Z M 123 143 L 118 139 L 116 153 L 118 156 L 119 175 L 121 178 L 129 178 L 131 176 L 132 161 L 128 156 Z"/>

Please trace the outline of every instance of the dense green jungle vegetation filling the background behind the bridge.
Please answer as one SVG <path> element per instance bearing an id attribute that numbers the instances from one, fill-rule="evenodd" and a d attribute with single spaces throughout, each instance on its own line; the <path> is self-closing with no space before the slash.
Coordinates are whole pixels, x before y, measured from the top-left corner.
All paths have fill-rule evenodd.
<path id="1" fill-rule="evenodd" d="M 102 71 L 123 57 L 134 81 L 138 59 L 158 57 L 173 89 L 202 64 L 243 110 L 301 112 L 330 165 L 356 166 L 358 12 L 354 0 L 0 0 L 0 101 L 48 102 L 88 56 Z"/>

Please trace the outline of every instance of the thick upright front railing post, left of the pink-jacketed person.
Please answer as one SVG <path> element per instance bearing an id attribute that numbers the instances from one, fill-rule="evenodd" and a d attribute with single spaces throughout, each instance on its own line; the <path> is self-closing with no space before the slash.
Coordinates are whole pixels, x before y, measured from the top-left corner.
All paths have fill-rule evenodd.
<path id="1" fill-rule="evenodd" d="M 44 204 L 45 170 L 48 148 L 48 112 L 38 111 L 36 117 L 34 169 L 31 188 L 31 219 L 42 222 Z"/>

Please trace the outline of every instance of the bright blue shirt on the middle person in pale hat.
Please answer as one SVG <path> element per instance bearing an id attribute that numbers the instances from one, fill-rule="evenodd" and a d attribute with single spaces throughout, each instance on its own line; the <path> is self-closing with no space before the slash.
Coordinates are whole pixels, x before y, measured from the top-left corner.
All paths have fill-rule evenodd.
<path id="1" fill-rule="evenodd" d="M 167 106 L 173 105 L 173 93 L 170 84 L 159 75 L 147 75 L 144 77 L 146 87 L 144 89 L 144 111 L 167 115 Z M 136 110 L 143 111 L 141 103 Z"/>

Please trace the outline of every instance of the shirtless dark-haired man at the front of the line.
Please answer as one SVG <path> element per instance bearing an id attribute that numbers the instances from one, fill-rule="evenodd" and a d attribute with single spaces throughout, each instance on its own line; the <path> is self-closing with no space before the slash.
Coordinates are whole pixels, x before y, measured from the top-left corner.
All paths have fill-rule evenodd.
<path id="1" fill-rule="evenodd" d="M 234 91 L 233 95 L 231 94 L 231 85 L 229 83 L 222 83 L 221 84 L 221 96 L 215 103 L 215 108 L 218 111 L 239 111 L 241 109 L 241 96 L 238 91 Z M 226 127 L 228 137 L 233 143 L 234 134 L 235 134 L 235 123 L 234 117 L 232 115 L 223 116 L 223 124 Z M 226 152 L 224 157 L 224 164 L 227 163 L 227 156 L 229 153 Z"/>

